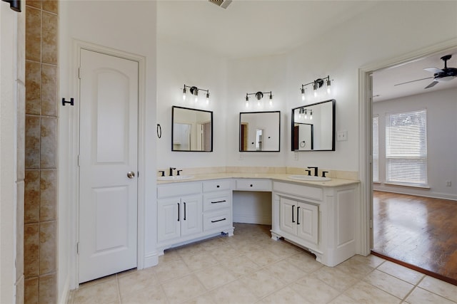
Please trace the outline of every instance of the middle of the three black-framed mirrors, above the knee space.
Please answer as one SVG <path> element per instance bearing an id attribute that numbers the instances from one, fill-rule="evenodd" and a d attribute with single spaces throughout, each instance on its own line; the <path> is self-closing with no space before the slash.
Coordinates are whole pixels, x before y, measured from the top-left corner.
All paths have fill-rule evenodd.
<path id="1" fill-rule="evenodd" d="M 279 152 L 281 112 L 241 112 L 240 152 Z"/>

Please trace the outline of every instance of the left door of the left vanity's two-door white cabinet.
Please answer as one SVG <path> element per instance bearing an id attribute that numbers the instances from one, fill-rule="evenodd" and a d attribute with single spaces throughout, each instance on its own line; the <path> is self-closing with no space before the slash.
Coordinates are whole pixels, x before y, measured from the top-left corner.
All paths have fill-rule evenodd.
<path id="1" fill-rule="evenodd" d="M 181 236 L 181 200 L 179 198 L 157 201 L 157 241 L 179 239 Z"/>

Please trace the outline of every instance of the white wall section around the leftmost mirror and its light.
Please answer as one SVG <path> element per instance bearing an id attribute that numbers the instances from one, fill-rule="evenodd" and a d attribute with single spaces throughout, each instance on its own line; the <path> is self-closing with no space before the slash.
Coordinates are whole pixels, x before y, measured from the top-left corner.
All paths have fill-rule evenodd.
<path id="1" fill-rule="evenodd" d="M 224 167 L 226 159 L 226 60 L 205 50 L 189 45 L 176 45 L 169 41 L 157 44 L 157 123 L 162 137 L 157 140 L 157 169 L 176 167 Z M 199 103 L 187 90 L 183 100 L 184 84 L 209 90 L 210 101 L 206 105 L 206 92 L 199 93 Z M 171 107 L 213 111 L 213 152 L 171 152 Z M 155 129 L 154 129 L 155 130 Z M 230 151 L 230 150 L 229 150 Z M 157 173 L 157 171 L 156 171 Z"/>

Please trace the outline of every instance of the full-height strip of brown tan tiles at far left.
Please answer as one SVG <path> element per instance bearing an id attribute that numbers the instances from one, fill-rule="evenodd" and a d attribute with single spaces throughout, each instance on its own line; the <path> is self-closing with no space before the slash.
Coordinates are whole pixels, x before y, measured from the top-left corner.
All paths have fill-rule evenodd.
<path id="1" fill-rule="evenodd" d="M 25 303 L 57 302 L 58 1 L 26 1 Z"/>

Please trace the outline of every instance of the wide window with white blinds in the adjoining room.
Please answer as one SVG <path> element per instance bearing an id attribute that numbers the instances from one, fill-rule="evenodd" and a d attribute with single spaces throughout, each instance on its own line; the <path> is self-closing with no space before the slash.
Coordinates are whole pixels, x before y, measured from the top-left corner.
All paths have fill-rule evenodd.
<path id="1" fill-rule="evenodd" d="M 426 110 L 386 115 L 386 182 L 427 187 Z"/>

